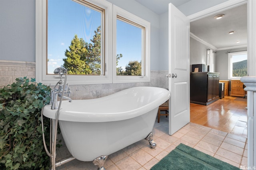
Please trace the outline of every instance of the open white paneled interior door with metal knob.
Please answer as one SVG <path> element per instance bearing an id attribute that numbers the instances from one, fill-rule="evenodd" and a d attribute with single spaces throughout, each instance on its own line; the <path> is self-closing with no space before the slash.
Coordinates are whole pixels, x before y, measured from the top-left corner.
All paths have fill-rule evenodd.
<path id="1" fill-rule="evenodd" d="M 190 20 L 169 4 L 169 134 L 190 122 Z"/>

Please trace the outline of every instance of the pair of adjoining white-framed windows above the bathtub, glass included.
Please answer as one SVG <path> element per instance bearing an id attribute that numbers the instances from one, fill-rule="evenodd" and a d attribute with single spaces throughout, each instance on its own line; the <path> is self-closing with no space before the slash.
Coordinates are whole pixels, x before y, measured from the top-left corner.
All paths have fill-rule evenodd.
<path id="1" fill-rule="evenodd" d="M 131 32 L 136 35 L 117 41 L 116 34 Z M 125 60 L 136 61 L 140 73 L 117 75 L 117 63 L 123 70 L 133 64 Z M 150 23 L 106 0 L 36 1 L 36 81 L 56 83 L 53 70 L 61 66 L 68 69 L 70 85 L 148 82 Z"/>

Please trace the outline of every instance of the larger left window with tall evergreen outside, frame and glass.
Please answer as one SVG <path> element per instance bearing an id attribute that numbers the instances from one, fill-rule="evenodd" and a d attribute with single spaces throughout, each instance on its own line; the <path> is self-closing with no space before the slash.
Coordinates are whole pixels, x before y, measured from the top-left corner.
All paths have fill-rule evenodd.
<path id="1" fill-rule="evenodd" d="M 56 2 L 56 4 L 52 2 Z M 53 9 L 50 6 L 48 9 L 47 3 L 50 3 Z M 63 5 L 67 5 L 66 3 L 68 6 L 63 7 Z M 75 12 L 77 13 L 74 17 Z M 94 16 L 88 17 L 86 12 L 93 12 Z M 55 17 L 55 19 L 52 20 L 49 17 Z M 67 26 L 68 24 L 72 26 Z M 98 59 L 97 65 L 88 62 L 89 69 L 94 68 L 94 73 L 89 71 L 89 75 L 77 73 L 69 75 L 68 83 L 70 85 L 112 83 L 112 69 L 109 69 L 112 68 L 112 50 L 108 50 L 112 49 L 112 4 L 104 0 L 68 0 L 65 3 L 62 0 L 36 1 L 36 81 L 55 84 L 55 78 L 58 78 L 59 75 L 52 74 L 52 68 L 64 64 L 63 59 L 67 58 L 65 56 L 66 49 L 70 51 L 69 46 L 72 45 L 72 40 L 74 39 L 74 42 L 76 41 L 81 45 L 83 41 L 80 41 L 80 38 L 82 38 L 84 44 L 88 41 L 87 45 L 89 45 L 92 43 L 90 41 L 92 36 L 87 36 L 87 34 L 92 33 L 94 35 L 94 30 L 98 28 L 99 24 L 101 33 L 100 59 Z M 86 29 L 90 32 L 86 32 Z M 58 34 L 60 35 L 56 36 Z M 64 47 L 64 45 L 66 46 Z M 59 52 L 55 53 L 54 51 L 58 48 L 60 48 Z M 89 52 L 92 53 L 93 51 Z M 72 55 L 76 55 L 76 53 Z M 81 66 L 81 61 L 79 62 L 78 65 Z M 86 70 L 88 67 L 83 69 Z M 98 72 L 95 73 L 96 71 Z"/>

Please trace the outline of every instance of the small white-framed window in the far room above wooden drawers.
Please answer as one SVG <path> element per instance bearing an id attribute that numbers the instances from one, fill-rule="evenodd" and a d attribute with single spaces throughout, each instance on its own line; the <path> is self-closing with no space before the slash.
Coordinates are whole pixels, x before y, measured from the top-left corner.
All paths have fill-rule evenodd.
<path id="1" fill-rule="evenodd" d="M 247 76 L 247 51 L 228 53 L 228 79 Z"/>

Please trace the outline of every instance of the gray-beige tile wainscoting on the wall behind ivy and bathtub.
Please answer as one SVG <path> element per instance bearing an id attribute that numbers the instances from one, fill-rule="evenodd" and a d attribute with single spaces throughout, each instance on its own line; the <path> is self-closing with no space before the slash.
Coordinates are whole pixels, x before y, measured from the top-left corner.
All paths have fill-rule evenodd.
<path id="1" fill-rule="evenodd" d="M 116 83 L 116 84 L 92 84 L 70 85 L 72 99 L 94 99 L 104 97 L 117 91 L 138 86 L 153 86 L 168 89 L 168 79 L 165 71 L 151 71 L 151 81 L 146 83 Z M 36 63 L 28 61 L 0 60 L 0 88 L 12 84 L 17 77 L 34 78 L 36 75 Z"/>

